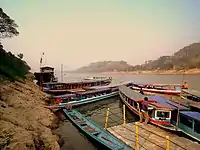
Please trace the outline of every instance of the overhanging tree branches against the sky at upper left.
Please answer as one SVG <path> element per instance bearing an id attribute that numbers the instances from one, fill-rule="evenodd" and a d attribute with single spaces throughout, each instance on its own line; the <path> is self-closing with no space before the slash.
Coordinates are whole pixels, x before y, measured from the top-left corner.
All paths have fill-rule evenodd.
<path id="1" fill-rule="evenodd" d="M 0 39 L 19 35 L 18 25 L 0 8 Z"/>

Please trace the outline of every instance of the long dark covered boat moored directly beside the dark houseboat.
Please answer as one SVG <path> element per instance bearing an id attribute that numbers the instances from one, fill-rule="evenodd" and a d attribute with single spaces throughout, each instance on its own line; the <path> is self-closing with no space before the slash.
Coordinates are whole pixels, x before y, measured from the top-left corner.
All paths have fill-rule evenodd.
<path id="1" fill-rule="evenodd" d="M 60 95 L 64 93 L 70 93 L 68 91 L 70 89 L 81 89 L 84 87 L 91 87 L 91 86 L 105 86 L 109 85 L 111 82 L 112 82 L 111 77 L 104 79 L 97 79 L 97 80 L 68 82 L 68 83 L 48 82 L 48 83 L 43 83 L 43 91 L 54 95 Z"/>

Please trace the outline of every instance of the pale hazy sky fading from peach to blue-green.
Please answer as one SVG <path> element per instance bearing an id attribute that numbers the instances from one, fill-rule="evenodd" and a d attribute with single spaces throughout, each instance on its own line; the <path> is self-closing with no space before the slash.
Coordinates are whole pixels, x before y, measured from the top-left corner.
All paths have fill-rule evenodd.
<path id="1" fill-rule="evenodd" d="M 0 0 L 20 35 L 3 41 L 36 70 L 90 62 L 141 64 L 200 41 L 200 0 Z"/>

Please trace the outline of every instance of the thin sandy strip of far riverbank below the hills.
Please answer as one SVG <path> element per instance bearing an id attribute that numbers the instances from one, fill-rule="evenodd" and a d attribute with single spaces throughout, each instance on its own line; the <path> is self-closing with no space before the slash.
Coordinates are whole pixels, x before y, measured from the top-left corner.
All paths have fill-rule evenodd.
<path id="1" fill-rule="evenodd" d="M 119 71 L 103 72 L 102 74 L 133 74 L 133 75 L 195 75 L 200 74 L 200 68 L 188 70 L 151 70 L 151 71 Z"/>

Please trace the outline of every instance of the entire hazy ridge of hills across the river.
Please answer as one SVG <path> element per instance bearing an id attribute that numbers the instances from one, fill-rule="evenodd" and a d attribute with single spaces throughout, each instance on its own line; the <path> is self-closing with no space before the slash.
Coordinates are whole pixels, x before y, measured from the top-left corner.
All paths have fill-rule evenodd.
<path id="1" fill-rule="evenodd" d="M 125 61 L 102 61 L 90 63 L 75 72 L 153 71 L 200 68 L 200 43 L 194 43 L 175 52 L 172 56 L 161 56 L 145 61 L 142 65 L 130 65 Z"/>

